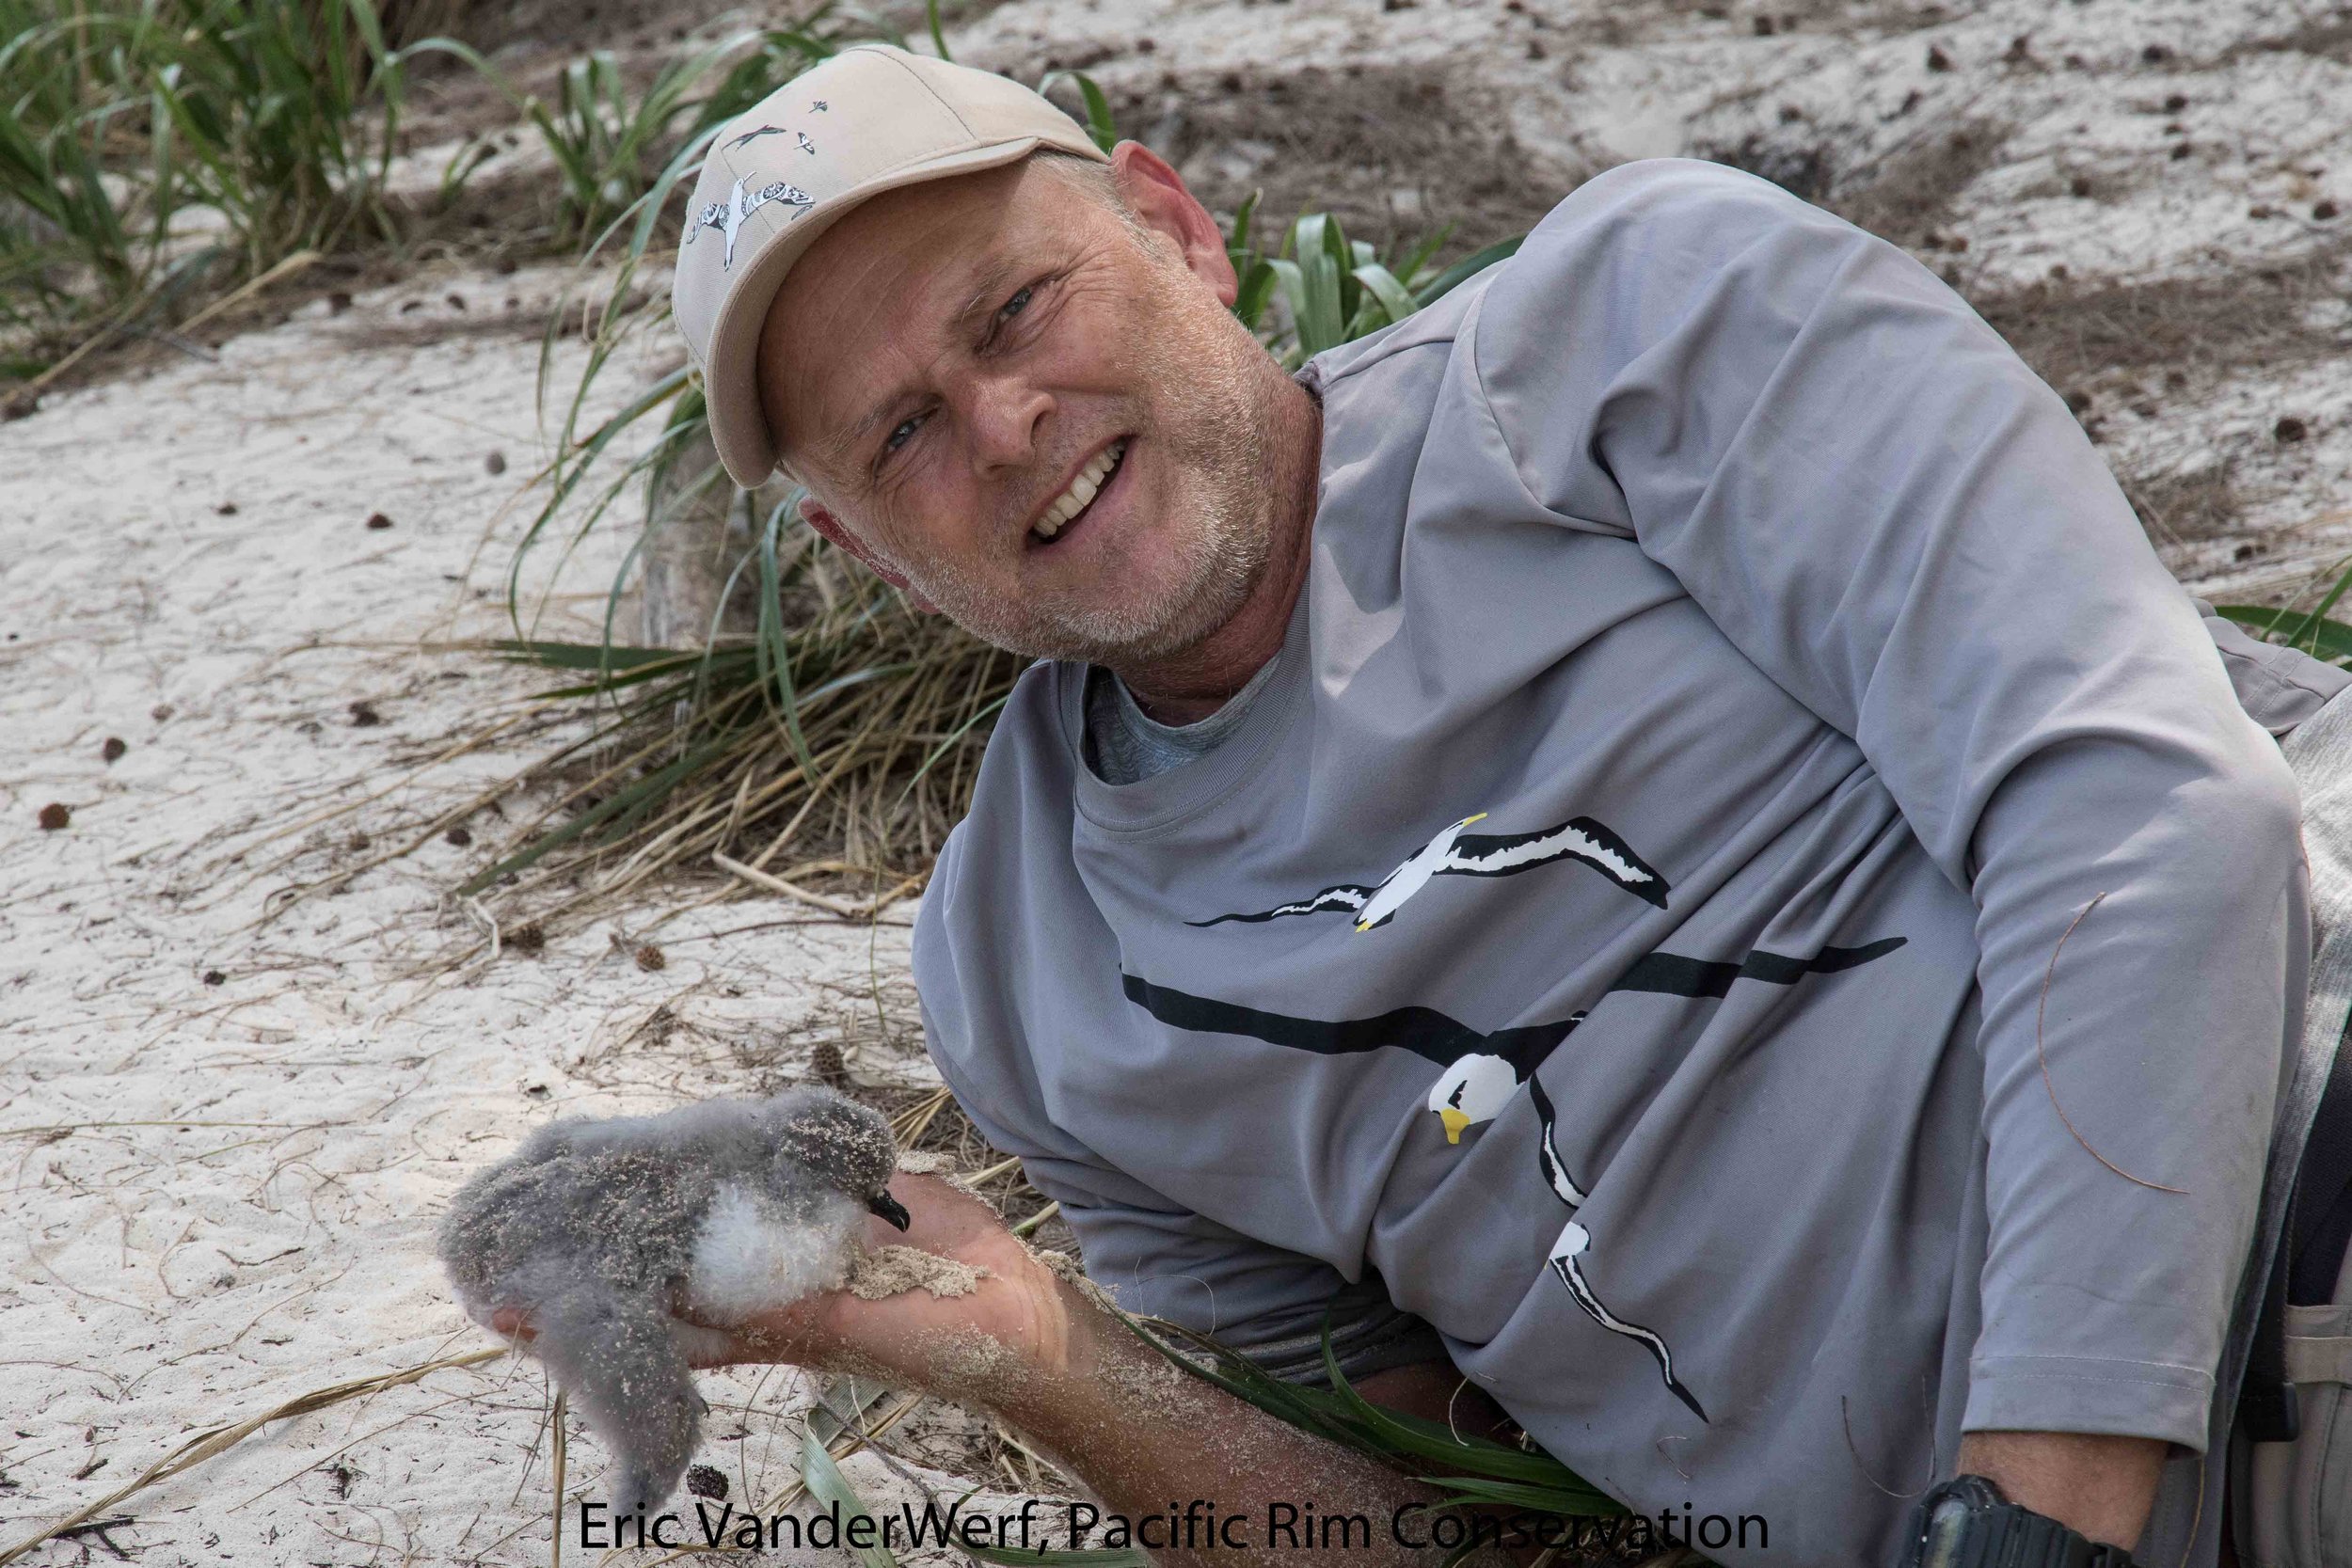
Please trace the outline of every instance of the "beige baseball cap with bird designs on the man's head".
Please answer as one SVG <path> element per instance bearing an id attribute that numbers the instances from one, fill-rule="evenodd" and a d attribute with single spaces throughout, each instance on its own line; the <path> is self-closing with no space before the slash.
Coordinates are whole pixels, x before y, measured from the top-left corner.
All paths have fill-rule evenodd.
<path id="1" fill-rule="evenodd" d="M 760 327 L 802 252 L 866 197 L 1037 148 L 1103 160 L 1077 120 L 1021 82 L 889 45 L 842 49 L 717 134 L 694 181 L 670 303 L 736 484 L 776 473 L 760 416 Z"/>

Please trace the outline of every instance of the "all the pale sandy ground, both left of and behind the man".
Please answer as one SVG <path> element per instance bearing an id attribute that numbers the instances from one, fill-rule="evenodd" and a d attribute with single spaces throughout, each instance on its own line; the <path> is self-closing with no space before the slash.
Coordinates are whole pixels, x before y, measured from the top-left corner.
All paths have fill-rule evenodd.
<path id="1" fill-rule="evenodd" d="M 1811 169 L 1832 202 L 1879 179 L 1922 259 L 2020 322 L 2037 362 L 2084 367 L 2063 390 L 2133 494 L 2178 501 L 2154 531 L 2183 578 L 2286 597 L 2352 548 L 2352 219 L 2321 216 L 2352 205 L 2352 12 L 1018 0 L 957 40 L 1028 80 L 1087 66 L 1216 200 L 1268 183 L 1284 212 L 1282 181 L 1327 179 L 1369 233 L 1526 221 L 1656 153 Z M 1955 132 L 1978 139 L 1964 158 Z M 1889 193 L 1889 169 L 1915 188 Z M 2232 315 L 2291 266 L 2324 287 L 2260 331 Z M 659 971 L 633 957 L 675 907 L 659 898 L 539 957 L 440 969 L 482 936 L 447 896 L 477 851 L 442 842 L 285 905 L 365 858 L 369 820 L 522 757 L 322 818 L 532 686 L 428 644 L 501 630 L 501 508 L 541 456 L 539 343 L 513 322 L 553 287 L 412 277 L 0 425 L 0 1171 L 19 1220 L 0 1237 L 0 1549 L 205 1427 L 487 1345 L 442 1291 L 430 1225 L 539 1119 L 757 1091 L 828 1037 L 863 1041 L 868 1081 L 924 1081 L 898 1023 L 906 905 L 875 929 L 694 910 L 652 931 Z M 2159 313 L 2171 336 L 2067 348 L 2084 301 L 2176 296 L 2206 303 L 2185 327 Z M 623 548 L 583 541 L 548 630 L 593 630 Z M 35 827 L 52 802 L 71 813 L 54 832 Z M 736 1497 L 786 1483 L 797 1378 L 706 1392 L 706 1458 Z M 268 1427 L 127 1502 L 108 1540 L 141 1563 L 536 1563 L 543 1408 L 529 1363 L 440 1371 Z M 593 1483 L 593 1443 L 572 1455 Z M 849 1472 L 880 1505 L 908 1495 L 870 1458 Z M 85 1537 L 28 1561 L 111 1559 Z"/>

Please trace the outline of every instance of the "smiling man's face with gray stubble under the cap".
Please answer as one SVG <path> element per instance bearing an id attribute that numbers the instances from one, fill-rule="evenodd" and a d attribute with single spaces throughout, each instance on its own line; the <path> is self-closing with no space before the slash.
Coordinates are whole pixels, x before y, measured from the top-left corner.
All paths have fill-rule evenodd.
<path id="1" fill-rule="evenodd" d="M 1218 299 L 1204 219 L 1188 263 L 1148 195 L 1141 233 L 1040 160 L 875 197 L 762 329 L 828 531 L 997 646 L 1164 658 L 1265 569 L 1282 371 Z"/>

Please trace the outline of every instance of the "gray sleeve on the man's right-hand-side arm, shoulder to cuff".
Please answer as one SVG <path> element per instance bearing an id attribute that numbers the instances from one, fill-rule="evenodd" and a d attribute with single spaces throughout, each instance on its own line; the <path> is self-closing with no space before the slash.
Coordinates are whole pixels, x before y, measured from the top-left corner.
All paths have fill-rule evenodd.
<path id="1" fill-rule="evenodd" d="M 2307 945 L 2298 797 L 2098 451 L 1926 268 L 1715 165 L 1588 183 L 1470 331 L 1529 496 L 1668 567 L 1976 903 L 1964 1425 L 2201 1448 Z"/>

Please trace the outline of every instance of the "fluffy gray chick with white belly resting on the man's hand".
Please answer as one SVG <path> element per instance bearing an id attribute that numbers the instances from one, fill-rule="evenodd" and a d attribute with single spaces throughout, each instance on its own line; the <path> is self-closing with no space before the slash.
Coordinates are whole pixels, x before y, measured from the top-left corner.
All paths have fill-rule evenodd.
<path id="1" fill-rule="evenodd" d="M 713 1328 L 835 1291 L 863 1215 L 906 1208 L 889 1121 L 826 1088 L 659 1117 L 569 1117 L 468 1180 L 440 1258 L 477 1321 L 527 1314 L 532 1349 L 619 1462 L 614 1507 L 652 1512 L 694 1455 L 689 1354 Z"/>

